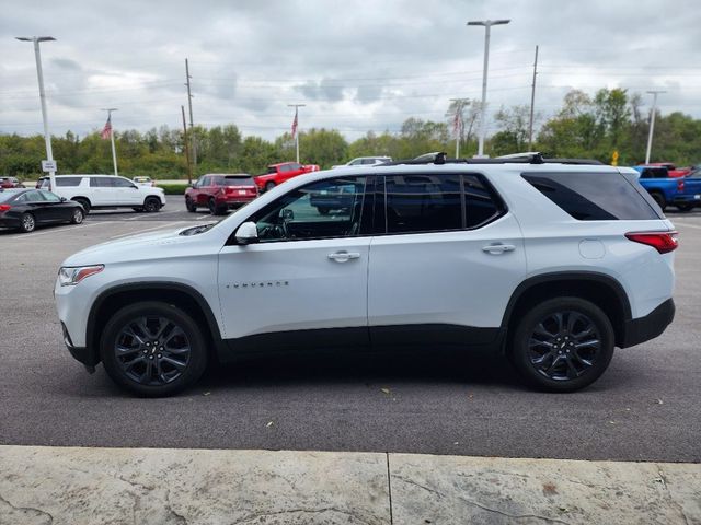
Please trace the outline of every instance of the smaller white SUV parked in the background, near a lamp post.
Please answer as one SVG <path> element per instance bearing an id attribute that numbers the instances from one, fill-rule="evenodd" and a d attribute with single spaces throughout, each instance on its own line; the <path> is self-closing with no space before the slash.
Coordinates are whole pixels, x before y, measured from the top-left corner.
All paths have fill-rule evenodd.
<path id="1" fill-rule="evenodd" d="M 48 189 L 45 177 L 41 187 Z M 133 208 L 136 211 L 159 211 L 165 206 L 163 188 L 140 186 L 115 175 L 57 175 L 54 192 L 80 202 L 89 213 L 100 208 Z"/>

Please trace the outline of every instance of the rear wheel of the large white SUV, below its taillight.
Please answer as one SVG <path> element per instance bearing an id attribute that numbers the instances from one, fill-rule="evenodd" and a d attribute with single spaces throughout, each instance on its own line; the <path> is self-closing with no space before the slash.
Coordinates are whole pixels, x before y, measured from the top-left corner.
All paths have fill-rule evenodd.
<path id="1" fill-rule="evenodd" d="M 577 345 L 582 345 L 578 351 Z M 613 327 L 601 308 L 584 299 L 558 298 L 524 315 L 508 357 L 532 386 L 574 392 L 601 376 L 611 362 L 614 345 Z"/>

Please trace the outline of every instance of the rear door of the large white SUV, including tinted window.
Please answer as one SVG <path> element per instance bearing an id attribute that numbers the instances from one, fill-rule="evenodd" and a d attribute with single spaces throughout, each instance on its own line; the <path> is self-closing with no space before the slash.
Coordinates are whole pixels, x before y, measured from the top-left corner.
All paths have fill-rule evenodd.
<path id="1" fill-rule="evenodd" d="M 386 187 L 370 245 L 372 342 L 493 342 L 526 273 L 516 219 L 479 174 L 378 178 Z"/>

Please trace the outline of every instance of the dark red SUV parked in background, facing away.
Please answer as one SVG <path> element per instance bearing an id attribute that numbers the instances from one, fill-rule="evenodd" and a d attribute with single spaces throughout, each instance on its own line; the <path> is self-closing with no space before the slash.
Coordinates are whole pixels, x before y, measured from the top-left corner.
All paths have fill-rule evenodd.
<path id="1" fill-rule="evenodd" d="M 187 211 L 197 207 L 208 208 L 212 215 L 220 215 L 232 208 L 240 208 L 258 196 L 253 177 L 245 173 L 235 175 L 207 174 L 185 190 Z"/>

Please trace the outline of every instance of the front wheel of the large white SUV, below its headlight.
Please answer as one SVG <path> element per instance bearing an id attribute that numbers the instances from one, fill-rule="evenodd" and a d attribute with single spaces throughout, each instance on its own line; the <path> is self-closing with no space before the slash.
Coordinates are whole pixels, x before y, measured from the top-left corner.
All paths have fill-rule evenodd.
<path id="1" fill-rule="evenodd" d="M 157 337 L 159 330 L 163 335 Z M 116 312 L 102 332 L 100 357 L 112 381 L 142 397 L 176 394 L 207 368 L 197 324 L 177 306 L 157 301 Z"/>

